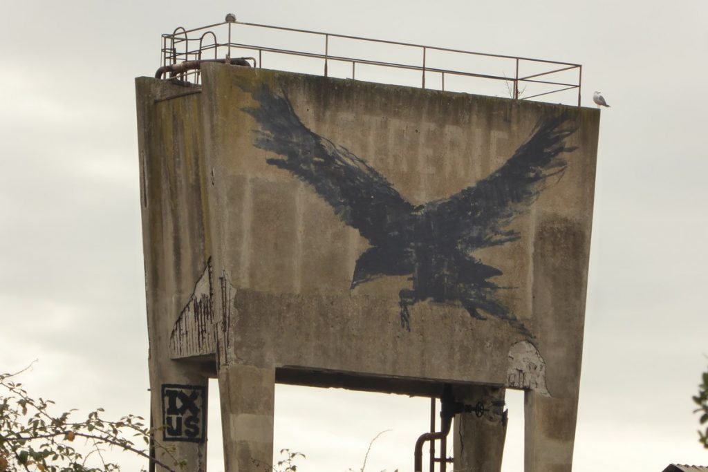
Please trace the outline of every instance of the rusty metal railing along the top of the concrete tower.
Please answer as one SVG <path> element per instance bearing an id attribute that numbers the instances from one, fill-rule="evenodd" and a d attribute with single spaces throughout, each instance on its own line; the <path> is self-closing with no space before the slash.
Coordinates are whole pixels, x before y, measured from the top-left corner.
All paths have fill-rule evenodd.
<path id="1" fill-rule="evenodd" d="M 217 33 L 226 37 L 224 42 L 219 41 Z M 284 40 L 283 35 L 291 35 L 286 40 L 288 47 L 268 45 L 273 39 Z M 292 35 L 297 38 L 292 38 Z M 304 45 L 307 42 L 310 43 L 309 47 L 290 47 L 290 44 Z M 408 57 L 409 60 L 391 62 L 354 55 L 360 54 L 371 45 L 377 48 L 371 52 L 372 55 L 395 54 L 397 59 Z M 338 52 L 337 48 L 341 52 Z M 191 30 L 178 27 L 173 33 L 162 35 L 161 52 L 162 67 L 156 76 L 169 76 L 194 84 L 200 83 L 201 62 L 227 62 L 263 67 L 263 59 L 266 57 L 268 66 L 273 64 L 273 69 L 299 69 L 295 71 L 346 79 L 362 80 L 363 76 L 363 80 L 381 83 L 395 82 L 395 74 L 390 72 L 392 69 L 411 71 L 420 75 L 417 81 L 413 81 L 410 75 L 407 76 L 404 85 L 414 85 L 417 82 L 416 85 L 422 88 L 443 91 L 491 95 L 489 87 L 486 87 L 485 93 L 485 87 L 479 86 L 479 81 L 476 80 L 496 81 L 497 84 L 503 82 L 506 86 L 506 96 L 520 100 L 551 94 L 556 94 L 557 97 L 562 92 L 577 90 L 577 105 L 581 105 L 581 64 L 243 23 L 236 21 L 231 14 L 227 15 L 226 21 L 222 23 Z M 285 60 L 285 57 L 293 56 L 316 59 L 316 64 L 312 61 L 296 64 Z M 341 64 L 345 64 L 346 69 L 341 67 Z M 333 71 L 335 66 L 337 70 Z M 365 67 L 368 68 L 368 73 L 362 74 Z M 472 70 L 464 70 L 465 67 Z M 372 72 L 372 69 L 389 72 L 382 74 L 380 71 Z M 471 83 L 463 84 L 460 79 L 471 80 Z M 450 82 L 455 84 L 450 86 Z M 529 87 L 532 87 L 532 90 L 526 93 Z M 572 93 L 571 97 L 572 102 L 575 102 L 576 94 Z M 560 101 L 568 103 L 569 93 L 564 94 Z"/>

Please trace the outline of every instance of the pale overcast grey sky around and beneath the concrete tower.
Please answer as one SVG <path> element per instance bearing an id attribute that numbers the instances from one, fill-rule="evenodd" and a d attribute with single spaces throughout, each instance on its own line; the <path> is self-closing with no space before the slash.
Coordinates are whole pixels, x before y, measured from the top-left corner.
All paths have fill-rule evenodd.
<path id="1" fill-rule="evenodd" d="M 228 12 L 583 64 L 583 105 L 600 90 L 612 108 L 600 124 L 574 470 L 708 465 L 690 399 L 708 364 L 704 0 L 3 1 L 0 371 L 38 358 L 23 377 L 35 395 L 147 415 L 134 78 L 159 67 L 161 33 Z M 510 396 L 507 472 L 521 470 L 521 408 Z M 275 447 L 307 454 L 303 471 L 343 472 L 392 430 L 367 470 L 403 472 L 427 417 L 420 398 L 279 387 Z M 217 456 L 210 471 L 223 470 Z"/>

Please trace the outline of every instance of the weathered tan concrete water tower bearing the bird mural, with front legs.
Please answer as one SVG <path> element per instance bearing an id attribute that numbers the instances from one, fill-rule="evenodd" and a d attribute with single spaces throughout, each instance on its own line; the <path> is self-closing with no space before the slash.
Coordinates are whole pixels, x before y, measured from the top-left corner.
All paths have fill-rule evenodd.
<path id="1" fill-rule="evenodd" d="M 218 64 L 202 82 L 156 102 L 138 81 L 151 381 L 200 384 L 183 366 L 217 355 L 227 468 L 270 462 L 279 378 L 524 388 L 527 471 L 570 470 L 599 113 Z M 498 468 L 478 449 L 464 464 Z"/>

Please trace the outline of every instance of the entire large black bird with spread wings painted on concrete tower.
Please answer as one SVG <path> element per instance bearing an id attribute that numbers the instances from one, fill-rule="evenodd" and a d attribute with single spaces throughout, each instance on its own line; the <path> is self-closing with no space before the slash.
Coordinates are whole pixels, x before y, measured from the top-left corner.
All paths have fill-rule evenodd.
<path id="1" fill-rule="evenodd" d="M 366 161 L 305 126 L 285 92 L 241 84 L 258 107 L 244 108 L 260 125 L 255 145 L 278 157 L 268 164 L 290 172 L 331 205 L 344 223 L 370 243 L 356 261 L 351 289 L 387 275 L 408 275 L 399 292 L 401 326 L 410 330 L 409 307 L 418 301 L 459 303 L 478 319 L 493 316 L 532 337 L 496 298 L 501 271 L 475 258 L 481 248 L 520 238 L 508 229 L 567 163 L 576 148 L 565 140 L 576 127 L 565 115 L 542 117 L 498 170 L 444 200 L 413 205 Z M 549 180 L 554 178 L 552 180 Z"/>

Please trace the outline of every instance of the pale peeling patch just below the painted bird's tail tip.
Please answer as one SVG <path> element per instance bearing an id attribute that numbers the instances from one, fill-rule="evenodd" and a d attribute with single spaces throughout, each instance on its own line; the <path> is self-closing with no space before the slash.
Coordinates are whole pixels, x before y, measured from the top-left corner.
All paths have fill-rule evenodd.
<path id="1" fill-rule="evenodd" d="M 551 396 L 546 387 L 546 362 L 532 343 L 520 341 L 509 348 L 506 386 Z"/>

